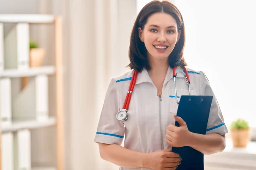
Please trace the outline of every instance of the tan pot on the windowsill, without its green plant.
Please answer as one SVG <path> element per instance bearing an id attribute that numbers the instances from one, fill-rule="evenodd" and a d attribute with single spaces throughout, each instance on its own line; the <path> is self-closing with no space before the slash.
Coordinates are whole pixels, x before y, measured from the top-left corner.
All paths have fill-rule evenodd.
<path id="1" fill-rule="evenodd" d="M 250 129 L 231 129 L 234 147 L 246 147 L 250 141 Z"/>

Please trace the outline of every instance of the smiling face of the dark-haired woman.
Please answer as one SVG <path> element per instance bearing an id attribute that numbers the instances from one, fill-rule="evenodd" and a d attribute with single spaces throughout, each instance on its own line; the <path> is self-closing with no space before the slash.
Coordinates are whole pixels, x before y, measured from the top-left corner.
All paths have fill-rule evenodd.
<path id="1" fill-rule="evenodd" d="M 144 29 L 139 28 L 139 37 L 147 49 L 148 59 L 168 59 L 180 38 L 175 19 L 166 13 L 148 17 Z"/>

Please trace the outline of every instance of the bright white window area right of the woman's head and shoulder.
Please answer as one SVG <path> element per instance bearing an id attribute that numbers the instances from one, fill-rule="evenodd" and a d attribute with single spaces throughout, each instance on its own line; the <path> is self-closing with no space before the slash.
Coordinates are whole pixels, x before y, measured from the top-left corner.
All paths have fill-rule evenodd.
<path id="1" fill-rule="evenodd" d="M 207 75 L 227 125 L 256 127 L 256 10 L 252 0 L 175 0 L 186 28 L 188 67 Z"/>

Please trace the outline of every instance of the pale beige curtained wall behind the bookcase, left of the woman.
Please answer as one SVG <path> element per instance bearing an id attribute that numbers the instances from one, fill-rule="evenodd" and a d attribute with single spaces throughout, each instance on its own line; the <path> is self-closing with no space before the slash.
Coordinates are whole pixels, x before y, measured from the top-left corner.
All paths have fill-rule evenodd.
<path id="1" fill-rule="evenodd" d="M 1 0 L 2 14 L 63 17 L 65 170 L 119 169 L 100 159 L 98 145 L 93 140 L 110 79 L 128 71 L 125 66 L 129 63 L 129 37 L 136 9 L 136 0 Z M 54 63 L 52 30 L 49 26 L 31 29 L 31 37 L 47 48 L 44 64 Z M 50 87 L 55 87 L 53 80 L 50 83 Z M 52 112 L 54 104 L 51 97 Z M 39 130 L 33 140 L 51 139 L 54 131 L 50 131 L 47 134 L 49 131 Z M 39 139 L 34 147 L 41 146 Z M 55 155 L 49 155 L 51 150 L 55 150 L 54 144 L 44 144 L 32 153 L 33 159 L 53 164 Z"/>

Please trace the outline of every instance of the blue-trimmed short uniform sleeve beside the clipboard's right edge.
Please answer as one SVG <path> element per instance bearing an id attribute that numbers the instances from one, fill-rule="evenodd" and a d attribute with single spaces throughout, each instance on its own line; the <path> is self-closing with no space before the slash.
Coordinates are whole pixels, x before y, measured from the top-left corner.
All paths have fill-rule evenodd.
<path id="1" fill-rule="evenodd" d="M 207 79 L 206 75 L 202 71 L 201 71 L 200 83 L 201 83 L 200 85 L 201 94 L 213 96 L 206 134 L 218 133 L 220 135 L 224 135 L 225 133 L 228 133 L 216 96 L 212 91 L 209 80 Z"/>

